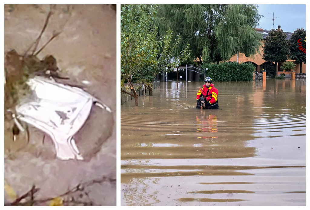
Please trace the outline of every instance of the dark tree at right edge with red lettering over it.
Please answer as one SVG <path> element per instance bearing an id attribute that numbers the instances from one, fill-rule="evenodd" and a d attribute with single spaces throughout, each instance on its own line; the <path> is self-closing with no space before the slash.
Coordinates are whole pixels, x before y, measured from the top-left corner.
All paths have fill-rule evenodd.
<path id="1" fill-rule="evenodd" d="M 301 43 L 300 43 L 301 42 Z M 292 34 L 290 38 L 290 55 L 289 58 L 295 60 L 296 63 L 300 63 L 300 73 L 303 63 L 306 63 L 306 31 L 303 28 L 298 28 Z M 300 47 L 301 46 L 301 47 Z M 301 50 L 300 50 L 301 49 Z"/>

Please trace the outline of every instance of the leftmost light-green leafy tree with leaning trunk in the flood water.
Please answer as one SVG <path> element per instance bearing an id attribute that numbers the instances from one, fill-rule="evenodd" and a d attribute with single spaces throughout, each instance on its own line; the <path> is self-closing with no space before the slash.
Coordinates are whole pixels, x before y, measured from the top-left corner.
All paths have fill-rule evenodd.
<path id="1" fill-rule="evenodd" d="M 127 81 L 131 92 L 121 87 L 121 91 L 135 98 L 138 94 L 133 79 L 139 78 L 141 71 L 156 60 L 157 28 L 153 20 L 156 7 L 146 5 L 125 5 L 121 11 L 121 84 Z"/>

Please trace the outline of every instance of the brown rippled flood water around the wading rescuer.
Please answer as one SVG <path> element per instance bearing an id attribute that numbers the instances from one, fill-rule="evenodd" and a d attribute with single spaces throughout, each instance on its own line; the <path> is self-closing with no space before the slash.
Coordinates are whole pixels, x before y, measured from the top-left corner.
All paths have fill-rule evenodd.
<path id="1" fill-rule="evenodd" d="M 121 106 L 121 204 L 306 204 L 306 81 L 162 82 Z"/>

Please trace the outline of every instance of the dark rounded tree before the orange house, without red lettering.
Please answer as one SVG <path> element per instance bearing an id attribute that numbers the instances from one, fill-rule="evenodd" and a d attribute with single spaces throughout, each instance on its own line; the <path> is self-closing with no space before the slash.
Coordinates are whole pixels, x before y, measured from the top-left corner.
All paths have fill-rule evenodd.
<path id="1" fill-rule="evenodd" d="M 277 63 L 287 60 L 289 55 L 289 45 L 286 40 L 286 34 L 282 29 L 272 29 L 266 38 L 263 46 L 263 59 L 265 61 L 274 62 L 274 76 L 277 76 Z"/>

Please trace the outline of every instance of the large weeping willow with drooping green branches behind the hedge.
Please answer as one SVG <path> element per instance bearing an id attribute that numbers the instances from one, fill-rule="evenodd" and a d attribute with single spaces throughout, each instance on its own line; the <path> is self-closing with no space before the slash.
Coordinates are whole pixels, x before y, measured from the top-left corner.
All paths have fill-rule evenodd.
<path id="1" fill-rule="evenodd" d="M 192 59 L 219 63 L 236 53 L 247 57 L 259 53 L 262 35 L 257 6 L 249 4 L 160 5 L 157 25 L 164 33 L 168 27 L 181 37 L 183 46 L 190 45 Z"/>

